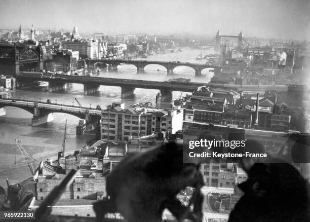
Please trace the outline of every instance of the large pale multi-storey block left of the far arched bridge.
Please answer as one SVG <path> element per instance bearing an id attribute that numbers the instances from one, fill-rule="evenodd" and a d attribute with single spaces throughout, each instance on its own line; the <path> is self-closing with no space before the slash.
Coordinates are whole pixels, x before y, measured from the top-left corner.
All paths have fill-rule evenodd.
<path id="1" fill-rule="evenodd" d="M 80 57 L 96 59 L 98 53 L 98 42 L 93 40 L 68 40 L 61 41 L 62 49 L 70 49 L 72 51 L 78 51 Z"/>

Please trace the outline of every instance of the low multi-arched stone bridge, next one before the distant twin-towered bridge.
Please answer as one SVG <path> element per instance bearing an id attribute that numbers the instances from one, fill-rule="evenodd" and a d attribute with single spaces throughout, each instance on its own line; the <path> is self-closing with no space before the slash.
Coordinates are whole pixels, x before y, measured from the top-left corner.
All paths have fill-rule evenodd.
<path id="1" fill-rule="evenodd" d="M 219 66 L 212 66 L 199 63 L 190 62 L 167 62 L 167 61 L 141 61 L 141 60 L 125 60 L 125 59 L 86 59 L 85 60 L 88 68 L 96 68 L 97 64 L 106 64 L 109 69 L 117 69 L 121 63 L 132 64 L 137 67 L 138 72 L 143 72 L 144 67 L 149 64 L 162 65 L 167 69 L 167 73 L 173 73 L 173 69 L 177 66 L 188 66 L 195 70 L 196 76 L 201 76 L 201 71 L 205 68 L 219 69 Z"/>

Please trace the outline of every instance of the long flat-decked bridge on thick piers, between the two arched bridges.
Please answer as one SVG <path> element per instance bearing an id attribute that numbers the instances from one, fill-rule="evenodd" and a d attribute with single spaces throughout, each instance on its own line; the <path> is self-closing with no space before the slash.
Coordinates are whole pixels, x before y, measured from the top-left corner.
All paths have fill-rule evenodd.
<path id="1" fill-rule="evenodd" d="M 243 92 L 259 92 L 264 93 L 266 90 L 287 91 L 285 85 L 232 85 L 232 84 L 210 84 L 196 82 L 181 82 L 181 81 L 147 81 L 134 79 L 115 79 L 102 77 L 86 77 L 86 76 L 68 76 L 55 75 L 50 76 L 40 72 L 24 72 L 17 75 L 18 82 L 35 82 L 44 81 L 49 83 L 49 91 L 57 91 L 64 89 L 66 83 L 79 83 L 84 85 L 84 95 L 98 92 L 100 85 L 102 86 L 118 86 L 122 88 L 122 98 L 134 94 L 135 88 L 142 89 L 158 89 L 164 100 L 171 101 L 172 92 L 193 92 L 200 86 L 209 86 L 222 89 L 232 89 Z"/>

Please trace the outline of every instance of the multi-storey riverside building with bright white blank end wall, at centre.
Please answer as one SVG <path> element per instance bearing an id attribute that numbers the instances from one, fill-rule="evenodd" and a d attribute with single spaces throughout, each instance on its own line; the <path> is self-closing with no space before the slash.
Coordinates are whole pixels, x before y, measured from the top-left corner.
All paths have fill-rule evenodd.
<path id="1" fill-rule="evenodd" d="M 158 134 L 173 134 L 182 129 L 183 109 L 130 107 L 112 103 L 102 110 L 101 139 L 128 141 L 129 138 Z"/>

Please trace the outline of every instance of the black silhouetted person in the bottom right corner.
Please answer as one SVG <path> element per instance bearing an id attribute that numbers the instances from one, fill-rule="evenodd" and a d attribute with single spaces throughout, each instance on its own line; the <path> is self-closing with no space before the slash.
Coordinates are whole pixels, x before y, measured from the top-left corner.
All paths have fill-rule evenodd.
<path id="1" fill-rule="evenodd" d="M 264 146 L 255 140 L 246 144 L 246 150 L 264 151 Z M 309 183 L 297 169 L 272 157 L 265 163 L 251 158 L 242 161 L 248 179 L 238 186 L 244 195 L 228 222 L 310 221 Z"/>

